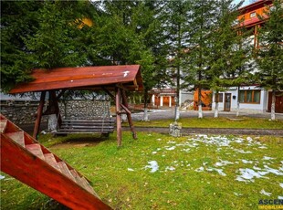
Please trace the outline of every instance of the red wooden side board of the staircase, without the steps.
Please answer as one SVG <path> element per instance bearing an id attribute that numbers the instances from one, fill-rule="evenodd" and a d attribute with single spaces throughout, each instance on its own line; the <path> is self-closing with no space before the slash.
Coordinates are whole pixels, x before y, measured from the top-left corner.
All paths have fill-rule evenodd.
<path id="1" fill-rule="evenodd" d="M 1 133 L 1 171 L 71 209 L 111 209 L 100 199 L 68 177 L 59 173 L 45 161 L 35 158 L 16 142 Z"/>

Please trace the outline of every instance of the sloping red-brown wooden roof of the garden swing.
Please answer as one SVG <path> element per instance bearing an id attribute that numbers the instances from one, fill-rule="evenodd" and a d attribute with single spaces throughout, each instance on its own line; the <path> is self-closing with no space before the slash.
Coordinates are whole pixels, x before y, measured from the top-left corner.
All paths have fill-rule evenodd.
<path id="1" fill-rule="evenodd" d="M 22 83 L 10 93 L 37 92 L 51 89 L 101 89 L 122 85 L 130 90 L 142 90 L 139 65 L 36 69 L 33 81 Z"/>

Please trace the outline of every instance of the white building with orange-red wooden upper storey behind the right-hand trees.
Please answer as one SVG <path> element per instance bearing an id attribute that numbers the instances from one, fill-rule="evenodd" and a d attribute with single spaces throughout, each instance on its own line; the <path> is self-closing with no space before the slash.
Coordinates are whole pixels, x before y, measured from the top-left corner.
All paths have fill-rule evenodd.
<path id="1" fill-rule="evenodd" d="M 241 26 L 246 27 L 251 32 L 248 37 L 250 44 L 257 48 L 258 28 L 265 24 L 266 19 L 260 19 L 259 16 L 265 16 L 265 10 L 272 6 L 272 0 L 257 0 L 255 3 L 246 5 L 239 9 L 239 21 L 243 21 Z M 266 112 L 271 110 L 271 89 L 260 89 L 257 85 L 231 87 L 226 91 L 219 93 L 219 110 L 236 110 L 237 99 L 240 101 L 240 110 L 248 112 Z M 283 113 L 283 95 L 277 92 L 275 111 Z M 213 109 L 215 108 L 215 95 L 213 97 Z"/>

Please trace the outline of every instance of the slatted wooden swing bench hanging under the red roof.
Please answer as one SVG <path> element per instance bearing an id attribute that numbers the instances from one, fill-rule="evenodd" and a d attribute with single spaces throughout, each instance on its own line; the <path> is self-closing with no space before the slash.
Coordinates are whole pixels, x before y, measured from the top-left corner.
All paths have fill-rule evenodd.
<path id="1" fill-rule="evenodd" d="M 108 136 L 113 133 L 115 121 L 112 118 L 98 118 L 93 120 L 63 120 L 57 135 L 70 133 L 100 133 Z"/>

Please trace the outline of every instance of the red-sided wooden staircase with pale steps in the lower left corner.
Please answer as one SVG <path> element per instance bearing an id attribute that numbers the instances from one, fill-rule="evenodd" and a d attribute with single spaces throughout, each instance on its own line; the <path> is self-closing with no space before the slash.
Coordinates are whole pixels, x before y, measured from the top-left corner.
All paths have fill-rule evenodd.
<path id="1" fill-rule="evenodd" d="M 1 171 L 71 209 L 111 209 L 89 180 L 0 115 Z"/>

